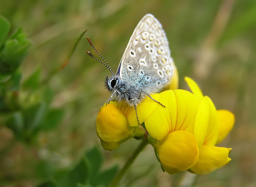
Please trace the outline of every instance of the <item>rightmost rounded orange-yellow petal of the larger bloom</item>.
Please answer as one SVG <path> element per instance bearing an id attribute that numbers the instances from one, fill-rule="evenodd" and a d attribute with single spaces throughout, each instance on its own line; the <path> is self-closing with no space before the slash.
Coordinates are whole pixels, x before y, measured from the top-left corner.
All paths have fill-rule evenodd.
<path id="1" fill-rule="evenodd" d="M 226 138 L 227 134 L 233 129 L 235 116 L 228 110 L 217 110 L 217 119 L 219 122 L 219 134 L 217 144 Z"/>

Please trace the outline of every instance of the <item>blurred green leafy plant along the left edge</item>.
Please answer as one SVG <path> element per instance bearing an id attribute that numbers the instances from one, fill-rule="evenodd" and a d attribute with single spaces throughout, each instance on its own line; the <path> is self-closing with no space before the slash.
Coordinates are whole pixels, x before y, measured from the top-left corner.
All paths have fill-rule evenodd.
<path id="1" fill-rule="evenodd" d="M 55 128 L 64 110 L 50 107 L 53 95 L 49 89 L 42 88 L 41 68 L 37 68 L 22 85 L 27 100 L 31 101 L 19 101 L 22 73 L 18 68 L 31 42 L 21 27 L 5 40 L 10 23 L 3 16 L 0 16 L 0 26 L 3 28 L 0 32 L 0 44 L 3 45 L 0 50 L 0 111 L 10 113 L 5 124 L 13 131 L 16 140 L 31 143 L 39 131 Z M 36 92 L 41 93 L 41 98 L 33 100 Z"/>

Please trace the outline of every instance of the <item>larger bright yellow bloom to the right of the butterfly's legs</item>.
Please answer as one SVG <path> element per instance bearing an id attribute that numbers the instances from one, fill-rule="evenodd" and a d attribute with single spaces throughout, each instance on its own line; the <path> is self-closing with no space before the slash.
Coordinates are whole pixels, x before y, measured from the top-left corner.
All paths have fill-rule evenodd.
<path id="1" fill-rule="evenodd" d="M 188 170 L 197 174 L 210 173 L 231 159 L 230 148 L 215 145 L 222 141 L 234 124 L 234 115 L 216 110 L 211 99 L 186 77 L 192 92 L 169 90 L 159 94 L 157 106 L 146 119 L 145 127 L 156 139 L 156 152 L 162 168 L 170 174 Z"/>

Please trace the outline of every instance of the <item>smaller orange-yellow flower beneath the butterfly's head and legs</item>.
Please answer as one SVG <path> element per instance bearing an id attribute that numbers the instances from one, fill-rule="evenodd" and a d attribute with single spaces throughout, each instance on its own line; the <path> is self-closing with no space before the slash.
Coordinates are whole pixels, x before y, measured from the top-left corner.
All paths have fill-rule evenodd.
<path id="1" fill-rule="evenodd" d="M 151 96 L 158 99 L 159 93 Z M 157 104 L 150 98 L 144 99 L 137 107 L 140 122 L 145 121 Z M 111 101 L 101 107 L 96 119 L 96 127 L 101 145 L 106 150 L 113 150 L 129 138 L 142 137 L 145 133 L 143 127 L 138 125 L 134 108 L 124 102 Z"/>

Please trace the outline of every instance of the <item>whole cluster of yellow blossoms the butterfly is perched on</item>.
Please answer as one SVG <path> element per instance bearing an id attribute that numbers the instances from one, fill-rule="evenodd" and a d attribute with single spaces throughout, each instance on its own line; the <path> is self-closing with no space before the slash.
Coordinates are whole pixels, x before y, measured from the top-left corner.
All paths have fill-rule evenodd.
<path id="1" fill-rule="evenodd" d="M 216 110 L 212 100 L 203 96 L 198 85 L 185 78 L 191 92 L 167 90 L 151 96 L 137 107 L 138 125 L 133 107 L 110 102 L 97 117 L 97 135 L 104 149 L 112 150 L 132 137 L 145 137 L 153 145 L 161 167 L 170 174 L 188 170 L 207 174 L 231 159 L 231 148 L 215 146 L 233 128 L 234 115 Z"/>

